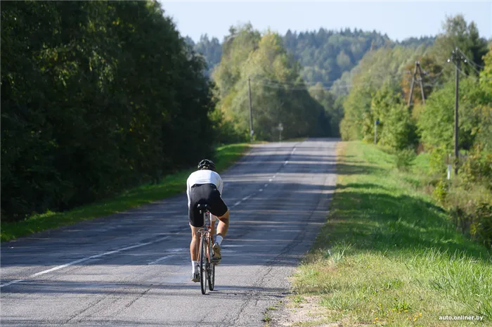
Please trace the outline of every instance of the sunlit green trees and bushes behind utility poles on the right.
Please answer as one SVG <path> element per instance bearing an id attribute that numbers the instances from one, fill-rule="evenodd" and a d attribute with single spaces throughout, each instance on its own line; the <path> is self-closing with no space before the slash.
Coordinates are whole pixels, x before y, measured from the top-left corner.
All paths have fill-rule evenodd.
<path id="1" fill-rule="evenodd" d="M 457 70 L 453 60 L 448 62 L 453 51 L 460 60 L 459 158 L 453 158 Z M 423 89 L 420 81 L 415 84 L 409 107 L 416 61 Z M 446 19 L 433 45 L 370 51 L 351 72 L 349 83 L 342 138 L 372 143 L 377 128 L 377 144 L 406 164 L 416 150 L 425 150 L 433 195 L 459 229 L 492 246 L 492 44 L 479 36 L 476 25 L 457 15 Z M 451 181 L 448 163 L 458 165 L 458 176 Z"/>

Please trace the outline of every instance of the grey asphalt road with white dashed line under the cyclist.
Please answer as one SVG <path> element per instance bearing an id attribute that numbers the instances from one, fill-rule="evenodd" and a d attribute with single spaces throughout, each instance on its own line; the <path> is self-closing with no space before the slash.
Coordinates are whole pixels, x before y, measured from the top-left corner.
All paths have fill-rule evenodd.
<path id="1" fill-rule="evenodd" d="M 208 295 L 189 281 L 185 193 L 0 243 L 0 326 L 264 326 L 325 221 L 335 144 L 257 145 L 222 174 L 231 227 Z"/>

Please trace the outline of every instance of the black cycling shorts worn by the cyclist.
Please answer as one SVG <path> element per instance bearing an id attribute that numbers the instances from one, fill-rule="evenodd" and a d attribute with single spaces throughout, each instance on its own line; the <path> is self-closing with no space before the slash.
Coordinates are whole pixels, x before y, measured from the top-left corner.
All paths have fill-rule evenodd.
<path id="1" fill-rule="evenodd" d="M 203 214 L 200 214 L 200 210 L 197 208 L 199 204 L 209 205 L 210 212 L 216 217 L 224 216 L 228 210 L 226 203 L 221 198 L 221 193 L 214 184 L 195 184 L 191 186 L 190 208 L 188 210 L 190 224 L 194 227 L 202 227 L 204 224 Z"/>

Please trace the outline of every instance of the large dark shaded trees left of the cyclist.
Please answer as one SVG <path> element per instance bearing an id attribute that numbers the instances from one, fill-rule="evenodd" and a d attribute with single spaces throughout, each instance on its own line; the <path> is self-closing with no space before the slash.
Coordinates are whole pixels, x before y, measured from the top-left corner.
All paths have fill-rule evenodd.
<path id="1" fill-rule="evenodd" d="M 0 219 L 105 198 L 211 153 L 205 63 L 156 1 L 3 1 L 0 15 Z"/>

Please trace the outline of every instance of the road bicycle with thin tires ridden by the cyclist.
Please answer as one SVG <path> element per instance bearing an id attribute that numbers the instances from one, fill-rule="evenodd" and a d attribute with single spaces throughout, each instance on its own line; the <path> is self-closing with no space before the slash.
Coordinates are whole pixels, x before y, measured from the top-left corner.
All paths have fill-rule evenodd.
<path id="1" fill-rule="evenodd" d="M 197 233 L 201 234 L 200 248 L 198 249 L 198 257 L 200 258 L 200 288 L 202 294 L 207 294 L 207 281 L 209 290 L 214 290 L 215 287 L 215 264 L 212 262 L 214 251 L 214 236 L 212 235 L 212 214 L 209 211 L 209 205 L 199 204 L 198 210 L 203 214 L 203 227 Z M 213 222 L 215 224 L 215 222 Z"/>

